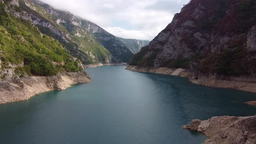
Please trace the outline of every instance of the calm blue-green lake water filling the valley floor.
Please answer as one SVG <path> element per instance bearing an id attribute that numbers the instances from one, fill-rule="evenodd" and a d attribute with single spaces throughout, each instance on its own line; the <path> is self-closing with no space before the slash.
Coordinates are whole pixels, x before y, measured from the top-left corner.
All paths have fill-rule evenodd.
<path id="1" fill-rule="evenodd" d="M 125 66 L 86 69 L 92 83 L 0 105 L 2 144 L 201 144 L 192 119 L 248 116 L 256 94 L 195 85 Z"/>

